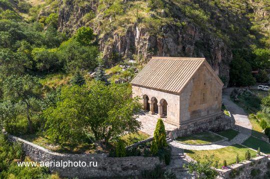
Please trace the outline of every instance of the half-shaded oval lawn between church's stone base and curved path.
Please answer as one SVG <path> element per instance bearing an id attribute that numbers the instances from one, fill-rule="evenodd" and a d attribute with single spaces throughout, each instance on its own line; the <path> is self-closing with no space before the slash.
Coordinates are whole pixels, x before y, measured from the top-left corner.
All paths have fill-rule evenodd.
<path id="1" fill-rule="evenodd" d="M 223 140 L 223 138 L 210 132 L 192 134 L 190 136 L 179 137 L 176 139 L 176 141 L 185 144 L 210 144 L 220 140 Z"/>

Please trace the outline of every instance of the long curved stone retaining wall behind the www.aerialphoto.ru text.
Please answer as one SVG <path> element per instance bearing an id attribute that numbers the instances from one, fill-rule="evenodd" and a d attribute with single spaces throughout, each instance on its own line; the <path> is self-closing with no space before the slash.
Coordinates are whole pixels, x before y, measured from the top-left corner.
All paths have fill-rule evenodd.
<path id="1" fill-rule="evenodd" d="M 20 142 L 22 150 L 35 162 L 54 162 L 54 166 L 49 167 L 51 172 L 58 173 L 63 178 L 94 179 L 94 178 L 121 178 L 126 176 L 138 176 L 144 170 L 152 170 L 156 165 L 164 166 L 158 157 L 123 157 L 111 158 L 108 154 L 59 154 L 48 151 L 40 146 L 8 135 L 11 142 Z M 85 167 L 56 167 L 61 162 L 77 162 Z"/>

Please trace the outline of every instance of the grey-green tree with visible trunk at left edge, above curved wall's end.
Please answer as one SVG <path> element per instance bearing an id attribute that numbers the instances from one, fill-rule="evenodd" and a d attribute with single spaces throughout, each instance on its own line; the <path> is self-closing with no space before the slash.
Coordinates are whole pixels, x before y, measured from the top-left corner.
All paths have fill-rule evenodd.
<path id="1" fill-rule="evenodd" d="M 11 75 L 3 81 L 3 99 L 21 107 L 20 112 L 26 116 L 30 133 L 33 132 L 32 117 L 41 112 L 40 89 L 41 84 L 30 75 Z"/>

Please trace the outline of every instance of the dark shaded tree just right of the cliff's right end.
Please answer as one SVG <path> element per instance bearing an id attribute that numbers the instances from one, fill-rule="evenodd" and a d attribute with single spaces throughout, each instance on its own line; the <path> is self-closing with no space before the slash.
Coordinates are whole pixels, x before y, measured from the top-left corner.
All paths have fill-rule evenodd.
<path id="1" fill-rule="evenodd" d="M 230 83 L 237 86 L 250 86 L 255 84 L 250 65 L 239 55 L 234 55 L 229 72 Z"/>

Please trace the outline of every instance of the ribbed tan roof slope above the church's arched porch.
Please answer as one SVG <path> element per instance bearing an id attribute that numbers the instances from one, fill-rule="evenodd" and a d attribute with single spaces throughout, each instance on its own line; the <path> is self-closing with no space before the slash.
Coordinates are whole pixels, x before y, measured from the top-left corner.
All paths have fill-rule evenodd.
<path id="1" fill-rule="evenodd" d="M 204 58 L 152 57 L 131 84 L 180 93 L 204 61 Z"/>

